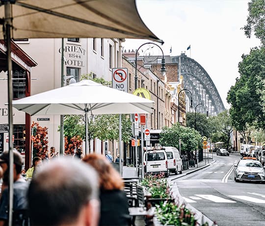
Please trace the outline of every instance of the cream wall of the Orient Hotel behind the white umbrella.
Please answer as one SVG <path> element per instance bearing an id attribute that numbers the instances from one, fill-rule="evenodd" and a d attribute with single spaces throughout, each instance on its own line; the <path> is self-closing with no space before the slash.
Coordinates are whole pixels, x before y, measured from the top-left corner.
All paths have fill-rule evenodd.
<path id="1" fill-rule="evenodd" d="M 27 42 L 17 42 L 27 54 L 37 62 L 31 69 L 31 95 L 52 90 L 61 86 L 61 39 L 29 39 Z M 112 67 L 117 67 L 117 59 L 121 59 L 121 45 L 118 39 L 104 39 L 104 55 L 101 56 L 101 39 L 96 39 L 96 50 L 93 50 L 93 39 L 79 39 L 79 43 L 64 39 L 64 75 L 67 67 L 79 68 L 79 75 L 90 74 L 111 80 L 109 68 L 109 45 L 112 46 Z M 120 56 L 117 58 L 117 50 Z M 4 77 L 4 73 L 0 77 Z M 0 124 L 8 123 L 7 81 L 0 80 Z M 6 109 L 6 110 L 5 110 Z M 5 113 L 6 111 L 6 113 Z M 49 118 L 50 121 L 38 121 L 38 118 Z M 25 113 L 14 109 L 14 124 L 25 124 Z M 48 127 L 49 147 L 59 150 L 58 126 L 60 116 L 39 115 L 32 116 L 31 122 L 38 122 L 40 126 Z M 93 147 L 91 145 L 91 147 Z M 96 142 L 96 151 L 101 152 L 101 142 Z"/>

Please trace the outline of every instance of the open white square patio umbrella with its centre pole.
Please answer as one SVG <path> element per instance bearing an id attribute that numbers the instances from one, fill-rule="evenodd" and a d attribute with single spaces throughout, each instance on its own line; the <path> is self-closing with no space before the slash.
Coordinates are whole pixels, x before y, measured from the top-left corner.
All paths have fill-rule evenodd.
<path id="1" fill-rule="evenodd" d="M 13 100 L 13 107 L 29 115 L 85 115 L 85 152 L 87 152 L 87 115 L 151 113 L 154 101 L 137 97 L 92 80 L 82 80 Z"/>

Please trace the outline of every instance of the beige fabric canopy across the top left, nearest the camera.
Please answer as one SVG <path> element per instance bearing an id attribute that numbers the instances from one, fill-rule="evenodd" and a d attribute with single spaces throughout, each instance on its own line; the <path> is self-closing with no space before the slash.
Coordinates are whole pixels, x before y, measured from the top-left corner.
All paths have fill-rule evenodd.
<path id="1" fill-rule="evenodd" d="M 16 39 L 99 37 L 162 42 L 142 22 L 135 0 L 16 0 L 11 17 L 11 36 Z M 3 6 L 0 18 L 4 18 Z"/>

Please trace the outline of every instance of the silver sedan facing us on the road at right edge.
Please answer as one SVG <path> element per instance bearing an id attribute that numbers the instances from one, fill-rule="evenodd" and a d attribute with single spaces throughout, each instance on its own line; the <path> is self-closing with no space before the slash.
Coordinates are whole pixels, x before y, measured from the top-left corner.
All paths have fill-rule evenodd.
<path id="1" fill-rule="evenodd" d="M 235 166 L 234 178 L 242 181 L 265 181 L 265 171 L 262 164 L 253 159 L 242 159 Z"/>

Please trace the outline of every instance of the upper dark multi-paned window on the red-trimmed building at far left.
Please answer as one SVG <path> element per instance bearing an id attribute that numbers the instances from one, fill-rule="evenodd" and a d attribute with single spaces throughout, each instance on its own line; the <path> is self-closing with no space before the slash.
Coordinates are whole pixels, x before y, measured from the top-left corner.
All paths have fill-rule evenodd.
<path id="1" fill-rule="evenodd" d="M 14 71 L 12 82 L 13 99 L 26 97 L 26 71 Z"/>

